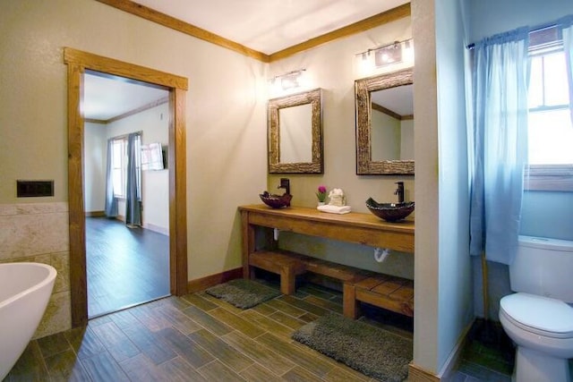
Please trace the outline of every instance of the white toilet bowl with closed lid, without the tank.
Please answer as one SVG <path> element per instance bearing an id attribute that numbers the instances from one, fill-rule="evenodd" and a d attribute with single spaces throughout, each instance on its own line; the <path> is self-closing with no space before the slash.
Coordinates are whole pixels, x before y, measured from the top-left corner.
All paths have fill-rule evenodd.
<path id="1" fill-rule="evenodd" d="M 500 300 L 500 323 L 517 346 L 517 382 L 569 382 L 573 358 L 573 307 L 530 293 Z"/>

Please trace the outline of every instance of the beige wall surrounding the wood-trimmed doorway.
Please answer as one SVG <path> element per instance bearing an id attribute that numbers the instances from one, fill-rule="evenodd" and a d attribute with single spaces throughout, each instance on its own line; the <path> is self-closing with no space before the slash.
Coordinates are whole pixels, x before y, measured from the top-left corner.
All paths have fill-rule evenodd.
<path id="1" fill-rule="evenodd" d="M 258 202 L 257 194 L 266 186 L 267 64 L 93 0 L 4 0 L 0 33 L 3 208 L 64 203 L 67 216 L 63 48 L 73 47 L 189 79 L 185 121 L 189 279 L 241 266 L 236 207 Z M 56 194 L 16 199 L 16 179 L 53 179 Z M 3 229 L 24 237 L 32 234 L 33 224 L 13 215 L 2 220 Z M 67 258 L 66 225 L 43 225 L 36 231 L 65 242 L 58 253 Z M 21 258 L 37 252 L 11 245 Z M 0 260 L 5 259 L 14 257 L 0 252 Z M 60 306 L 68 309 L 69 299 Z M 66 315 L 64 322 L 69 325 L 69 311 Z"/>

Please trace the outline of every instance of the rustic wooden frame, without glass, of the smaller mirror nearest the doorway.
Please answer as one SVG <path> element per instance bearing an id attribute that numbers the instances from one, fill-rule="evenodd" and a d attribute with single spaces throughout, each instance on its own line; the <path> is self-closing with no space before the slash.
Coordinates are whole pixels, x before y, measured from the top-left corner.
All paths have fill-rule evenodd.
<path id="1" fill-rule="evenodd" d="M 312 162 L 280 163 L 280 121 L 281 108 L 312 105 Z M 286 97 L 269 99 L 268 109 L 269 174 L 322 174 L 322 91 L 313 89 Z"/>

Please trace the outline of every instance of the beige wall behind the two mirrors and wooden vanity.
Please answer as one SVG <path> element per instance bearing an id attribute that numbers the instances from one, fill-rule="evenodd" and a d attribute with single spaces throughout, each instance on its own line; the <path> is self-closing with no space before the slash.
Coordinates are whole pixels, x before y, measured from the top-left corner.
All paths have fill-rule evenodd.
<path id="1" fill-rule="evenodd" d="M 346 194 L 347 204 L 354 211 L 369 213 L 366 199 L 397 200 L 394 183 L 404 181 L 406 199 L 414 199 L 413 176 L 358 176 L 355 169 L 355 80 L 411 65 L 396 64 L 375 72 L 362 72 L 355 55 L 372 47 L 410 38 L 411 29 L 410 18 L 404 18 L 270 64 L 270 77 L 306 69 L 307 89 L 322 89 L 324 174 L 269 175 L 269 191 L 276 192 L 279 178 L 287 177 L 291 183 L 292 204 L 315 207 L 317 199 L 314 193 L 319 185 L 325 185 L 329 190 L 341 188 Z M 273 96 L 278 97 L 277 94 Z M 391 252 L 380 264 L 374 261 L 371 247 L 293 233 L 281 233 L 279 246 L 346 265 L 414 278 L 414 257 L 411 254 Z"/>

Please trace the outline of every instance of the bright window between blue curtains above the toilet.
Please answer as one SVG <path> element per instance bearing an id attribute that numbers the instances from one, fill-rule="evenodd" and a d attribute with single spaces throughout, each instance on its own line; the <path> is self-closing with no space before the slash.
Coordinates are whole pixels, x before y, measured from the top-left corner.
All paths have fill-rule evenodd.
<path id="1" fill-rule="evenodd" d="M 533 36 L 535 33 L 541 36 Z M 526 190 L 573 191 L 573 124 L 563 46 L 557 30 L 531 36 Z M 540 38 L 541 37 L 541 38 Z"/>

